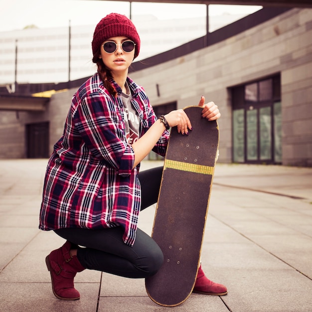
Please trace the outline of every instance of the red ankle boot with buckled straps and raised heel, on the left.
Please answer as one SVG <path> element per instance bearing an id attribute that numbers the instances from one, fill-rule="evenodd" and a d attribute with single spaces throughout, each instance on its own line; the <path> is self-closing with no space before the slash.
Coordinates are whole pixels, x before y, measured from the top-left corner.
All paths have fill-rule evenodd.
<path id="1" fill-rule="evenodd" d="M 71 243 L 66 242 L 61 248 L 53 250 L 45 258 L 50 271 L 52 290 L 56 298 L 61 300 L 77 300 L 79 292 L 74 288 L 74 277 L 85 268 L 76 256 L 70 254 Z"/>

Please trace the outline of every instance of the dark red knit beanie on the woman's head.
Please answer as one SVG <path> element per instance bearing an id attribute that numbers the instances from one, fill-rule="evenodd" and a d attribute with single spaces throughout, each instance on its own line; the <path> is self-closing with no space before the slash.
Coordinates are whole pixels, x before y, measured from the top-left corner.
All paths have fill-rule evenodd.
<path id="1" fill-rule="evenodd" d="M 93 55 L 101 47 L 101 44 L 110 37 L 125 36 L 136 44 L 135 58 L 140 52 L 140 37 L 133 22 L 125 15 L 110 13 L 96 25 L 93 40 Z"/>

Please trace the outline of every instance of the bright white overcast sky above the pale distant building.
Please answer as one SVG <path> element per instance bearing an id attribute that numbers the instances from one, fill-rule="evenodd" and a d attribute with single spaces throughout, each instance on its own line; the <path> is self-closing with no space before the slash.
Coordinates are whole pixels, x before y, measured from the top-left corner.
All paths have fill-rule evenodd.
<path id="1" fill-rule="evenodd" d="M 210 5 L 210 15 L 252 13 L 260 6 Z M 129 16 L 126 1 L 103 0 L 0 0 L 0 31 L 22 29 L 34 24 L 39 28 L 71 25 L 96 25 L 111 12 Z M 154 14 L 159 19 L 206 15 L 204 4 L 132 3 L 132 15 Z"/>

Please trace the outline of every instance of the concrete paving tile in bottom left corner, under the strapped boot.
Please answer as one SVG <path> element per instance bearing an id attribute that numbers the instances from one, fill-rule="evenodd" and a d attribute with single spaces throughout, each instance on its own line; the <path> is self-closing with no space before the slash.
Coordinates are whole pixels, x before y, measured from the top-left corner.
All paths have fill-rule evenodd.
<path id="1" fill-rule="evenodd" d="M 96 311 L 100 284 L 78 284 L 80 300 L 57 299 L 50 283 L 0 283 L 1 311 L 89 312 Z"/>

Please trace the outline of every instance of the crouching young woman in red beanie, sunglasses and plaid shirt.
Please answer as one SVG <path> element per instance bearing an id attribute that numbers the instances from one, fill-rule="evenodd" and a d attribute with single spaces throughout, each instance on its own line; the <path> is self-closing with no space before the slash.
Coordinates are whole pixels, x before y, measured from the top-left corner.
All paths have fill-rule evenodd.
<path id="1" fill-rule="evenodd" d="M 156 202 L 162 168 L 139 173 L 152 150 L 164 156 L 169 127 L 191 131 L 183 110 L 157 119 L 144 89 L 128 77 L 140 37 L 126 16 L 111 13 L 96 26 L 92 41 L 98 72 L 75 93 L 63 136 L 49 159 L 40 210 L 42 230 L 66 239 L 46 257 L 58 299 L 76 300 L 74 277 L 85 269 L 145 278 L 160 268 L 155 241 L 137 228 L 139 211 Z M 202 117 L 220 117 L 217 106 Z M 199 268 L 194 291 L 225 295 Z"/>

